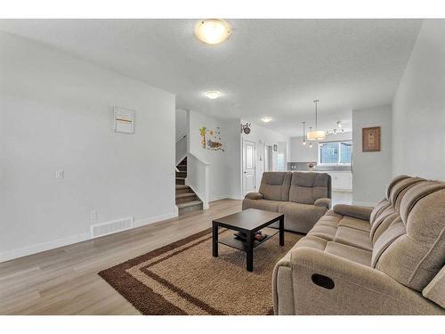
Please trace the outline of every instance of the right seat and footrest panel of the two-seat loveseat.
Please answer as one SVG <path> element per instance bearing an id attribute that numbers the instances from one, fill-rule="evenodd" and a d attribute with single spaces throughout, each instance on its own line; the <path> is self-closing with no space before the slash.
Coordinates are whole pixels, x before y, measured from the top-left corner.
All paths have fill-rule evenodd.
<path id="1" fill-rule="evenodd" d="M 282 202 L 279 204 L 279 212 L 285 215 L 285 229 L 301 233 L 309 232 L 315 222 L 317 222 L 327 210 L 325 207 L 316 207 L 310 204 L 293 202 Z"/>

